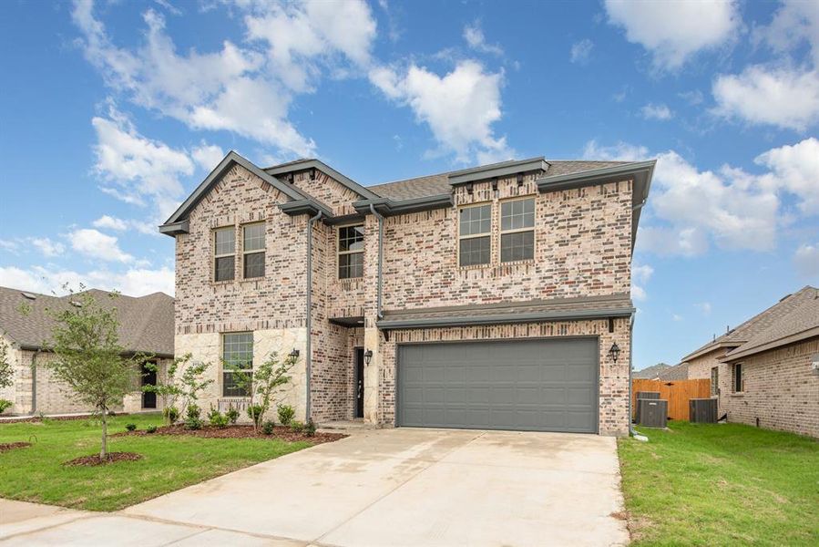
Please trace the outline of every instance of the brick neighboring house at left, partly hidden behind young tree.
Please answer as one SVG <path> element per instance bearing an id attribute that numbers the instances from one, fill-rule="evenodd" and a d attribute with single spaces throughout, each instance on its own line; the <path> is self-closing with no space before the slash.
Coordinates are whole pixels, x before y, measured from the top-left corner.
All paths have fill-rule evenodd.
<path id="1" fill-rule="evenodd" d="M 109 298 L 105 291 L 90 289 L 98 302 L 117 309 L 119 344 L 126 355 L 137 353 L 155 357 L 159 374 L 173 359 L 173 298 L 154 293 L 134 298 L 118 295 Z M 76 305 L 76 295 L 49 296 L 0 287 L 0 337 L 9 346 L 9 359 L 15 367 L 15 385 L 0 389 L 0 398 L 14 403 L 4 414 L 63 414 L 91 410 L 79 403 L 69 387 L 56 382 L 44 366 L 54 354 L 45 346 L 54 326 L 47 310 L 66 309 Z M 155 375 L 141 371 L 141 384 L 153 384 Z M 139 389 L 139 387 L 135 387 Z M 154 394 L 135 391 L 125 399 L 122 410 L 138 412 L 161 408 Z"/>

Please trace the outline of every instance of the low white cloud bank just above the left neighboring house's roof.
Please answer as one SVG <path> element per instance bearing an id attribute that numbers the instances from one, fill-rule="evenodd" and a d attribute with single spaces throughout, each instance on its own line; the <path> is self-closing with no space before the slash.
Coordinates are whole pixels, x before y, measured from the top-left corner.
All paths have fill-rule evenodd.
<path id="1" fill-rule="evenodd" d="M 119 291 L 128 296 L 152 293 L 173 295 L 174 273 L 169 268 L 150 270 L 130 268 L 124 272 L 92 270 L 78 273 L 72 270 L 46 269 L 33 266 L 29 269 L 0 266 L 0 285 L 41 294 L 64 294 L 63 285 L 77 288 L 79 284 L 105 291 Z"/>

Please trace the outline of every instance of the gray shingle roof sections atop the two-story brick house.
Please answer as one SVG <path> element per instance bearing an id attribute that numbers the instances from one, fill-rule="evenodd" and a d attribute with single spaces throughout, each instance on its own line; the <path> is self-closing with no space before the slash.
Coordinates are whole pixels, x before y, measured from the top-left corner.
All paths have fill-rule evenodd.
<path id="1" fill-rule="evenodd" d="M 492 167 L 500 167 L 506 161 L 486 165 L 487 169 Z M 546 172 L 548 176 L 551 175 L 567 175 L 569 173 L 578 173 L 585 170 L 601 169 L 605 167 L 614 167 L 630 163 L 629 161 L 588 161 L 588 160 L 559 160 L 548 161 L 549 167 Z M 474 169 L 474 168 L 473 168 Z M 427 175 L 425 177 L 416 177 L 415 179 L 406 179 L 404 181 L 386 182 L 384 184 L 376 184 L 369 186 L 371 191 L 384 198 L 392 198 L 394 200 L 410 200 L 413 198 L 421 198 L 425 196 L 435 196 L 438 194 L 449 193 L 452 187 L 449 185 L 449 177 L 456 175 L 463 170 L 445 171 L 435 175 Z"/>

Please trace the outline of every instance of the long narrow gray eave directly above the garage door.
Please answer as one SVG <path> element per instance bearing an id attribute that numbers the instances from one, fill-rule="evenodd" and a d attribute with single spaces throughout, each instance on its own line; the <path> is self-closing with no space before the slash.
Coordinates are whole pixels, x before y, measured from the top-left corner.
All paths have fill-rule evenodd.
<path id="1" fill-rule="evenodd" d="M 633 307 L 604 308 L 597 310 L 571 310 L 564 312 L 537 312 L 528 314 L 479 315 L 426 317 L 423 319 L 382 320 L 375 325 L 382 330 L 435 328 L 444 326 L 466 325 L 504 325 L 510 323 L 540 323 L 554 321 L 579 321 L 605 317 L 630 317 L 635 312 Z"/>

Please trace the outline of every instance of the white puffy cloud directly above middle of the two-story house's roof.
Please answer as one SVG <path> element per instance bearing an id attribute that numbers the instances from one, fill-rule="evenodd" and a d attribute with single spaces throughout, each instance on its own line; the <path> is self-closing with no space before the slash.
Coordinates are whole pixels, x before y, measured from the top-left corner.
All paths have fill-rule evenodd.
<path id="1" fill-rule="evenodd" d="M 454 153 L 462 163 L 508 160 L 514 151 L 492 125 L 501 118 L 503 73 L 486 72 L 474 60 L 459 62 L 452 72 L 438 76 L 412 65 L 399 75 L 389 67 L 370 73 L 373 84 L 388 98 L 413 109 L 415 118 L 432 130 L 440 150 Z"/>

